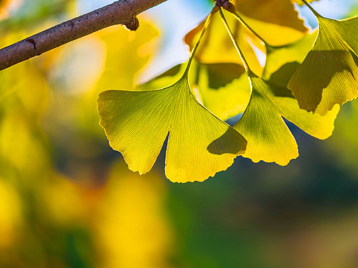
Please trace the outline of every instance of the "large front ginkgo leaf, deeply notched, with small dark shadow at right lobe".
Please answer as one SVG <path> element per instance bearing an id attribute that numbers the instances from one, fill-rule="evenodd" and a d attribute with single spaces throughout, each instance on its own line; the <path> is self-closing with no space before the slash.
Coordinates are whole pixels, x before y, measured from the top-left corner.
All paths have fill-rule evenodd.
<path id="1" fill-rule="evenodd" d="M 172 182 L 204 181 L 229 167 L 246 140 L 201 106 L 186 76 L 149 91 L 104 91 L 100 125 L 113 149 L 141 174 L 154 164 L 169 132 L 166 175 Z"/>

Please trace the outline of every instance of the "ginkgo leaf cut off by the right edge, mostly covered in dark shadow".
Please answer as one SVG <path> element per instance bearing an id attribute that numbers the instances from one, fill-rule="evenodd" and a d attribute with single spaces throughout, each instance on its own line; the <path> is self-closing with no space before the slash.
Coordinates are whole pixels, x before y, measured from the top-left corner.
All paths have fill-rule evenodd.
<path id="1" fill-rule="evenodd" d="M 288 86 L 300 108 L 324 115 L 358 97 L 358 17 L 336 21 L 315 15 L 317 39 Z"/>

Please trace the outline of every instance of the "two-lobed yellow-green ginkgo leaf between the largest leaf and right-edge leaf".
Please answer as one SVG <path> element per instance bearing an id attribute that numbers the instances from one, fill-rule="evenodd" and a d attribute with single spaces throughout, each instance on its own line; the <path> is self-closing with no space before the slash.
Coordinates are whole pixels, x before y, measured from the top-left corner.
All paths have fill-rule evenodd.
<path id="1" fill-rule="evenodd" d="M 298 157 L 296 140 L 282 117 L 316 138 L 326 139 L 332 134 L 338 105 L 325 116 L 308 113 L 298 107 L 287 88 L 270 85 L 253 73 L 250 77 L 251 99 L 234 126 L 248 142 L 243 157 L 279 165 L 286 165 Z"/>

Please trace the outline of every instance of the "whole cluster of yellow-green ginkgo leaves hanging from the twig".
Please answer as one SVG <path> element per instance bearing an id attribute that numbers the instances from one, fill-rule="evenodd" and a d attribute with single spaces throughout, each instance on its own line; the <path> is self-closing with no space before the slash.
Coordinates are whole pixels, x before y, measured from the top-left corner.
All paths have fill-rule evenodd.
<path id="1" fill-rule="evenodd" d="M 316 32 L 307 34 L 289 0 L 255 0 L 256 9 L 237 0 L 228 20 L 220 8 L 186 35 L 187 63 L 135 90 L 102 92 L 100 124 L 111 147 L 143 174 L 169 133 L 166 175 L 192 182 L 226 169 L 238 155 L 280 165 L 297 158 L 283 117 L 328 138 L 339 105 L 358 96 L 358 17 L 327 19 L 303 2 L 319 21 Z M 267 4 L 277 16 L 265 16 Z M 241 112 L 233 128 L 223 121 Z"/>

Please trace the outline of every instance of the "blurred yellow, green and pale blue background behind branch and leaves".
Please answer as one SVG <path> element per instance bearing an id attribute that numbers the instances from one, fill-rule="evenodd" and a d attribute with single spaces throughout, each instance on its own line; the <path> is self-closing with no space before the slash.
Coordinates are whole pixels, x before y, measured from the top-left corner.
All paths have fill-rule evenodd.
<path id="1" fill-rule="evenodd" d="M 0 0 L 0 47 L 112 1 Z M 313 6 L 358 14 L 357 0 Z M 358 267 L 357 100 L 327 140 L 290 124 L 287 166 L 238 157 L 203 183 L 167 180 L 165 147 L 142 176 L 110 148 L 98 94 L 186 61 L 182 39 L 211 7 L 168 0 L 136 32 L 109 27 L 0 72 L 1 268 Z"/>

